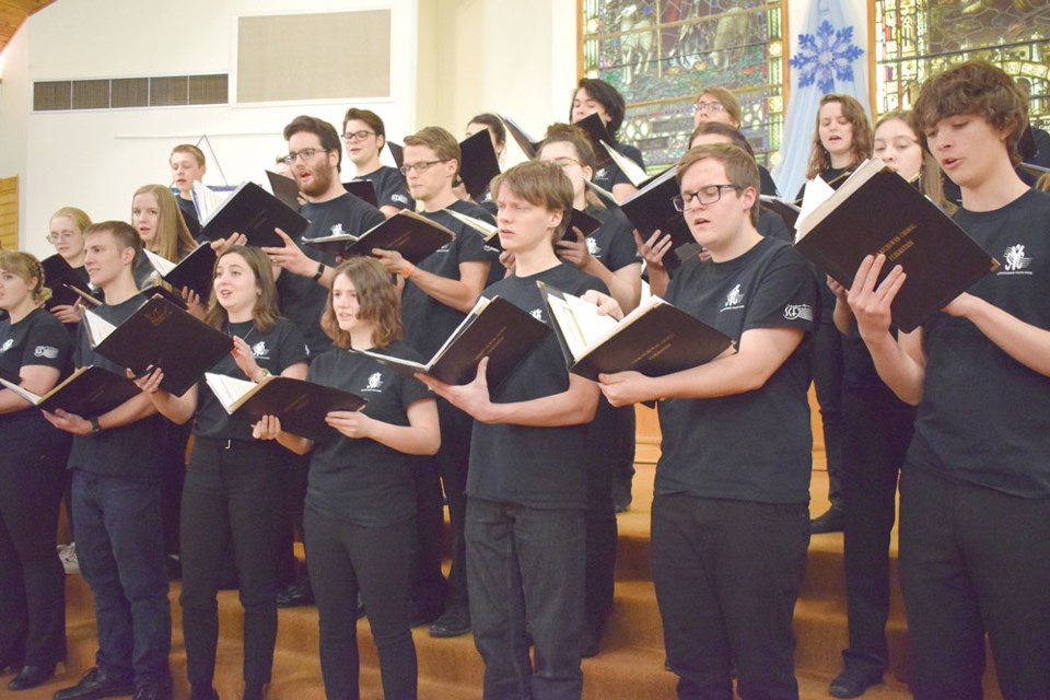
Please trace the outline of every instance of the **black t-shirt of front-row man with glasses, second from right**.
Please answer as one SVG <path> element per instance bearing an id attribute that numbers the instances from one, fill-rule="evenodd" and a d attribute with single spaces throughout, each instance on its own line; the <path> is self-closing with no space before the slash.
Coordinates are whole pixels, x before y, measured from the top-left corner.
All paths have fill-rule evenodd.
<path id="1" fill-rule="evenodd" d="M 762 238 L 733 260 L 684 262 L 666 299 L 737 343 L 754 328 L 798 328 L 806 337 L 760 389 L 660 401 L 655 492 L 808 502 L 809 346 L 819 295 L 805 259 L 781 241 Z"/>

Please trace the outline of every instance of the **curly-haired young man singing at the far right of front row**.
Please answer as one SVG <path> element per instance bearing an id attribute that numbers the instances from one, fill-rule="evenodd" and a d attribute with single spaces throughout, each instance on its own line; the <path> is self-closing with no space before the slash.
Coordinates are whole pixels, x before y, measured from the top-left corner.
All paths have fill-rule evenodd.
<path id="1" fill-rule="evenodd" d="M 879 376 L 918 406 L 900 477 L 900 583 L 919 700 L 982 698 L 984 635 L 1005 698 L 1050 692 L 1050 196 L 1014 172 L 1027 103 L 969 61 L 923 84 L 914 115 L 962 192 L 955 221 L 1003 261 L 899 340 L 907 269 L 849 293 Z M 1018 408 L 1020 410 L 1018 410 Z"/>

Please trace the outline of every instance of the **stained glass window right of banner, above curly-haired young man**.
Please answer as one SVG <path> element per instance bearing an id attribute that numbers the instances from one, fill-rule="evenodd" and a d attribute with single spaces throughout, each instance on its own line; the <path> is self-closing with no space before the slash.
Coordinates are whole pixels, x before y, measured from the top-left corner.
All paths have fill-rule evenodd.
<path id="1" fill-rule="evenodd" d="M 912 105 L 922 82 L 981 58 L 1029 92 L 1029 121 L 1050 128 L 1050 2 L 1046 0 L 875 0 L 879 113 Z"/>

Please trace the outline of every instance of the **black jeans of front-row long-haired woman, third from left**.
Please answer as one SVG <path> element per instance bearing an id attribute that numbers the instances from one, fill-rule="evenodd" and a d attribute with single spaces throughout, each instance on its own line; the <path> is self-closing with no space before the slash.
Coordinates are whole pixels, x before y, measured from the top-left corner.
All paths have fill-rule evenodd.
<path id="1" fill-rule="evenodd" d="M 232 555 L 244 608 L 244 679 L 270 681 L 277 641 L 277 552 L 283 483 L 272 443 L 197 439 L 183 488 L 183 633 L 186 675 L 211 685 L 219 641 L 219 591 Z M 228 539 L 229 537 L 229 539 Z"/>

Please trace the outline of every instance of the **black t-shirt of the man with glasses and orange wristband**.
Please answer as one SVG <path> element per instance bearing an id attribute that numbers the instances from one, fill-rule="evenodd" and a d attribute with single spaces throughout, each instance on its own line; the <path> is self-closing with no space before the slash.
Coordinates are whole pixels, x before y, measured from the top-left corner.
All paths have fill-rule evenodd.
<path id="1" fill-rule="evenodd" d="M 458 199 L 450 205 L 462 214 L 492 221 L 488 212 L 470 202 Z M 460 262 L 489 262 L 499 266 L 499 250 L 485 245 L 485 238 L 471 226 L 463 223 L 445 210 L 421 212 L 431 221 L 436 221 L 456 234 L 455 240 L 429 255 L 418 267 L 433 275 L 458 280 Z M 491 267 L 490 267 L 491 269 Z M 405 326 L 405 342 L 421 352 L 428 360 L 444 345 L 466 314 L 452 306 L 442 304 L 421 289 L 412 284 L 411 278 L 405 281 L 401 293 L 401 320 Z"/>

